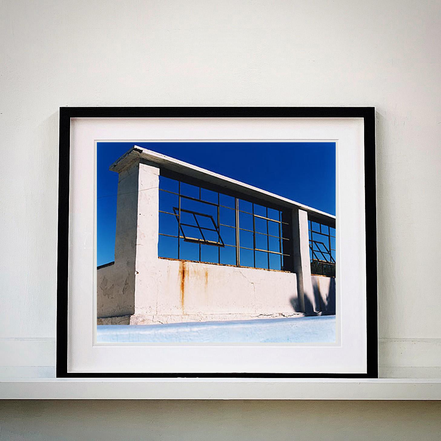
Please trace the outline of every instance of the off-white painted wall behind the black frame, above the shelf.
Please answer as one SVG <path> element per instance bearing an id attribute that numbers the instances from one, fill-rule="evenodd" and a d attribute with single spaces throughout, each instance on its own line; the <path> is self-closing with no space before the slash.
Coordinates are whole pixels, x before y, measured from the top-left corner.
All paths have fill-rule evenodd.
<path id="1" fill-rule="evenodd" d="M 0 9 L 0 374 L 54 372 L 59 106 L 374 105 L 380 373 L 441 376 L 441 296 L 428 277 L 441 257 L 438 1 L 3 0 Z M 366 406 L 350 426 L 334 411 L 328 424 L 336 430 L 340 415 L 357 434 L 366 415 L 385 421 Z M 301 408 L 312 427 L 322 412 Z M 292 409 L 245 405 L 228 429 L 246 439 L 255 428 L 245 421 L 292 424 Z M 88 415 L 78 410 L 99 426 Z M 168 421 L 161 415 L 156 424 Z M 205 433 L 219 432 L 223 415 L 213 407 Z M 434 428 L 433 414 L 418 415 Z M 34 420 L 23 421 L 26 433 Z M 400 421 L 391 437 L 411 433 Z"/>

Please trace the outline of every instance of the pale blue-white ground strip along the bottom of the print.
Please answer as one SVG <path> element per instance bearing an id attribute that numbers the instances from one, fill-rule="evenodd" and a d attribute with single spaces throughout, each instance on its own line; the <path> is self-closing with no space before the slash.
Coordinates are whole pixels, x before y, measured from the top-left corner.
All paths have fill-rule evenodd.
<path id="1" fill-rule="evenodd" d="M 100 343 L 333 343 L 335 315 L 206 321 L 167 325 L 99 325 Z"/>

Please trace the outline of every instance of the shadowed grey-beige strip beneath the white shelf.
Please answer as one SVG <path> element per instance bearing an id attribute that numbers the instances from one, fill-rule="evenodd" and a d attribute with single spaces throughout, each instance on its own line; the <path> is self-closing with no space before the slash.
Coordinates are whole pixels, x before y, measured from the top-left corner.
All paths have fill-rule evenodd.
<path id="1" fill-rule="evenodd" d="M 439 440 L 440 401 L 0 401 L 0 440 Z"/>

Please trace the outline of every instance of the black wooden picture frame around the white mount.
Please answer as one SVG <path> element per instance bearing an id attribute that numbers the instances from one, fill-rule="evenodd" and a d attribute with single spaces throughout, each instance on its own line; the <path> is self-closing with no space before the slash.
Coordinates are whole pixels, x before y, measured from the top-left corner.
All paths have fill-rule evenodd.
<path id="1" fill-rule="evenodd" d="M 68 250 L 71 118 L 363 118 L 366 212 L 366 374 L 72 373 L 68 355 Z M 62 107 L 60 108 L 57 261 L 57 377 L 377 378 L 377 227 L 373 107 Z"/>

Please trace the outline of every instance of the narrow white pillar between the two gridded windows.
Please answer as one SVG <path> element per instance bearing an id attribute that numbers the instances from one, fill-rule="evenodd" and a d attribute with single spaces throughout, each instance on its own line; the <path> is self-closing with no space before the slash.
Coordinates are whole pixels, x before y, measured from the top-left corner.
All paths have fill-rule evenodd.
<path id="1" fill-rule="evenodd" d="M 308 213 L 301 209 L 292 210 L 292 243 L 299 307 L 306 314 L 313 314 L 318 311 L 318 302 L 311 280 Z"/>

